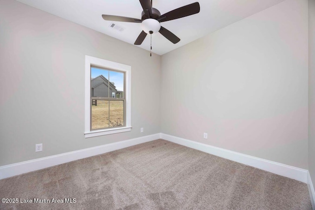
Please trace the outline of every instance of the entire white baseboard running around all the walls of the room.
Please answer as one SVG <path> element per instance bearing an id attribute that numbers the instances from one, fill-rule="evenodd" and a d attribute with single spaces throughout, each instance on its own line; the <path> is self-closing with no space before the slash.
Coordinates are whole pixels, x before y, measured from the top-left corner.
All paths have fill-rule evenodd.
<path id="1" fill-rule="evenodd" d="M 71 151 L 71 152 L 66 152 L 63 154 L 58 154 L 58 155 L 43 157 L 39 159 L 24 161 L 20 163 L 15 163 L 11 165 L 1 166 L 0 179 L 28 173 L 31 171 L 36 171 L 43 168 L 48 168 L 51 166 L 102 154 L 102 153 L 113 151 L 113 150 L 123 149 L 126 147 L 134 146 L 134 145 L 145 143 L 145 142 L 150 142 L 150 141 L 160 139 L 160 138 L 165 139 L 170 142 L 174 142 L 176 144 L 189 147 L 189 148 L 204 151 L 213 155 L 217 155 L 219 157 L 223 157 L 223 158 L 233 160 L 239 163 L 243 163 L 243 164 L 255 167 L 255 168 L 259 168 L 259 169 L 262 169 L 262 170 L 265 170 L 274 174 L 278 174 L 278 175 L 288 177 L 294 180 L 299 180 L 304 183 L 312 182 L 311 178 L 308 175 L 308 171 L 304 169 L 284 165 L 284 164 L 269 161 L 269 160 L 264 160 L 261 158 L 253 157 L 250 155 L 246 155 L 246 154 L 242 154 L 242 153 L 238 153 L 238 152 L 234 152 L 230 150 L 213 147 L 210 145 L 190 141 L 187 139 L 183 139 L 183 138 L 179 138 L 179 137 L 175 137 L 175 136 L 171 136 L 171 135 L 167 135 L 163 133 L 157 133 L 157 134 L 153 134 L 149 136 L 143 136 L 143 137 L 139 137 L 135 139 L 97 146 L 97 147 L 88 148 L 84 150 Z M 315 193 L 314 193 L 314 187 L 313 185 L 311 187 L 311 185 L 309 185 L 309 189 L 310 189 L 310 193 L 312 193 L 313 195 L 313 200 L 311 197 L 312 204 L 313 204 Z"/>

